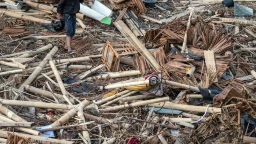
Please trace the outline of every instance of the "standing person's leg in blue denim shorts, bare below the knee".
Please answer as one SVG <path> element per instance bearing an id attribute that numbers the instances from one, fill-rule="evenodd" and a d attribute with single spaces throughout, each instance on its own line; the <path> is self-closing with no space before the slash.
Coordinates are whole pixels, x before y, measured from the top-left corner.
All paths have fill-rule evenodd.
<path id="1" fill-rule="evenodd" d="M 73 26 L 72 26 L 72 17 L 65 16 L 65 26 L 67 29 L 67 38 L 66 38 L 66 45 L 67 45 L 67 52 L 71 51 L 71 37 L 73 37 Z"/>

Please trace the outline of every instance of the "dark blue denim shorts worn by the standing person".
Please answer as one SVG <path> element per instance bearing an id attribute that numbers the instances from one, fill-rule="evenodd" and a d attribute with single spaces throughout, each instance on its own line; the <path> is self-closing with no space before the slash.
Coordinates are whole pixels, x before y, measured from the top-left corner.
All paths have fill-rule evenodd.
<path id="1" fill-rule="evenodd" d="M 64 15 L 67 37 L 73 37 L 76 32 L 76 16 Z"/>

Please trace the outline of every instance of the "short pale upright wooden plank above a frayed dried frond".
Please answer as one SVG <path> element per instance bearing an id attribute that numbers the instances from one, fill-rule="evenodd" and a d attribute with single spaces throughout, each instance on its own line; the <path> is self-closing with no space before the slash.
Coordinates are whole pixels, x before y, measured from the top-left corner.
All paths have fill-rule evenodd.
<path id="1" fill-rule="evenodd" d="M 211 50 L 205 50 L 204 51 L 204 60 L 207 69 L 213 69 L 213 72 L 216 72 L 216 65 L 215 65 L 215 58 L 214 53 Z M 214 82 L 218 82 L 218 79 L 216 78 Z"/>

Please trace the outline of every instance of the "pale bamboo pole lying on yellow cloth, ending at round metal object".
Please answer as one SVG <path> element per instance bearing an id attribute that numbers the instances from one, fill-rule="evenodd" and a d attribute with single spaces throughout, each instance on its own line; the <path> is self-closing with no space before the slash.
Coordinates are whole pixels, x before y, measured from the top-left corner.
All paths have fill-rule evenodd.
<path id="1" fill-rule="evenodd" d="M 144 84 L 149 84 L 149 80 L 145 81 L 139 81 L 139 82 L 129 82 L 125 84 L 109 84 L 104 87 L 104 89 L 112 89 L 112 88 L 123 88 L 126 86 L 139 86 L 139 85 L 144 85 Z M 100 90 L 103 90 L 103 86 L 100 86 Z"/>

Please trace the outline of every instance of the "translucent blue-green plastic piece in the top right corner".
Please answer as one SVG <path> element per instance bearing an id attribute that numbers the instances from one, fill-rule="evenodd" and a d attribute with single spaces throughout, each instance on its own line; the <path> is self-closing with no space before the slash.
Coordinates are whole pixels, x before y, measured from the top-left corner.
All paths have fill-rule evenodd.
<path id="1" fill-rule="evenodd" d="M 253 9 L 239 4 L 234 4 L 234 15 L 237 17 L 253 16 Z"/>

